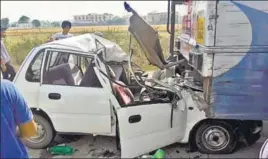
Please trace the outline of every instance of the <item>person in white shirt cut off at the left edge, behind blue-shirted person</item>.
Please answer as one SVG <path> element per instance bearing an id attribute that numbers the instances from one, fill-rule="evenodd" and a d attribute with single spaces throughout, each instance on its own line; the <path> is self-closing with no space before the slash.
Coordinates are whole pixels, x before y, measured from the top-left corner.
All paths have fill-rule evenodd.
<path id="1" fill-rule="evenodd" d="M 1 67 L 1 71 L 2 71 L 4 79 L 13 81 L 16 75 L 16 71 L 11 64 L 11 58 L 3 42 L 3 39 L 6 37 L 5 31 L 6 29 L 1 27 L 1 63 L 3 63 L 6 67 L 6 70 L 2 70 L 2 67 Z"/>

